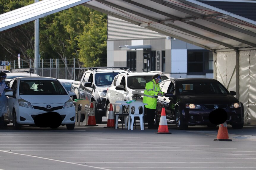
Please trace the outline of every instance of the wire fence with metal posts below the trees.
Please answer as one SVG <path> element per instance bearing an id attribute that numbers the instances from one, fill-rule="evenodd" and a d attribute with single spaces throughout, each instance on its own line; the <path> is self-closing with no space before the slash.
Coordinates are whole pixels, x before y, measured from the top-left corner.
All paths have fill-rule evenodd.
<path id="1" fill-rule="evenodd" d="M 11 70 L 33 71 L 39 76 L 54 77 L 57 79 L 80 80 L 83 73 L 87 70 L 81 67 L 82 63 L 74 59 L 47 59 L 40 60 L 40 68 L 34 67 L 33 60 L 10 61 Z"/>

